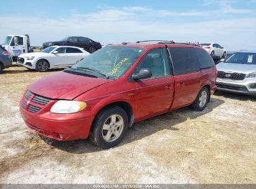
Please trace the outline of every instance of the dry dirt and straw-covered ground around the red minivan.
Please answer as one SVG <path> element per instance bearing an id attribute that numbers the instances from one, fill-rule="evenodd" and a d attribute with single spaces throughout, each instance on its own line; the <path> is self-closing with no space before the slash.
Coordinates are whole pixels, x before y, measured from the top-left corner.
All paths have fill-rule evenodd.
<path id="1" fill-rule="evenodd" d="M 19 101 L 45 75 L 0 75 L 0 183 L 256 183 L 256 98 L 215 93 L 202 112 L 183 108 L 133 125 L 120 145 L 40 138 Z"/>

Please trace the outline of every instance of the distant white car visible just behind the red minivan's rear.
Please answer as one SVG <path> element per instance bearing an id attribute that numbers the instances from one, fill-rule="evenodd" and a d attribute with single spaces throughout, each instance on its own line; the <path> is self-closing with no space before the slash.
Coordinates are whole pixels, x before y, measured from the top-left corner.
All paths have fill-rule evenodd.
<path id="1" fill-rule="evenodd" d="M 227 53 L 223 47 L 221 47 L 219 44 L 200 44 L 202 48 L 204 48 L 212 58 L 224 58 Z"/>

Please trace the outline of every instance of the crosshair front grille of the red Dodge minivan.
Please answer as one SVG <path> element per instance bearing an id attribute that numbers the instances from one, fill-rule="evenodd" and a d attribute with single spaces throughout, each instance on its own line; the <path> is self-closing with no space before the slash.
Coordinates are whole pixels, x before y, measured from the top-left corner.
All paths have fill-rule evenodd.
<path id="1" fill-rule="evenodd" d="M 27 102 L 29 100 L 31 100 L 33 103 L 28 103 L 27 111 L 30 111 L 31 113 L 37 113 L 43 108 L 43 106 L 49 103 L 52 99 L 46 98 L 44 96 L 39 96 L 37 94 L 32 93 L 31 91 L 26 91 L 26 93 L 24 94 L 24 98 L 21 101 L 22 108 L 26 109 Z"/>

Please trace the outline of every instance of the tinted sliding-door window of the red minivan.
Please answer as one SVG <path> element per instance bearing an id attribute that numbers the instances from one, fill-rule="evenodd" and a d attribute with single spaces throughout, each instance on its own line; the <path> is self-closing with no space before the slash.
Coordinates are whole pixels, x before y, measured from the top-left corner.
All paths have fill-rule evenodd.
<path id="1" fill-rule="evenodd" d="M 174 75 L 183 75 L 200 71 L 193 48 L 169 47 L 173 59 Z"/>

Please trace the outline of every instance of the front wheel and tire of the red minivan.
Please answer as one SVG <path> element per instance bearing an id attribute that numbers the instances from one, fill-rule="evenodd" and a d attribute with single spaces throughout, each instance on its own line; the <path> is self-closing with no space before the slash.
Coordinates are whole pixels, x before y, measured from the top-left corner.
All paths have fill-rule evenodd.
<path id="1" fill-rule="evenodd" d="M 116 115 L 115 121 L 118 118 L 119 118 L 119 121 L 123 121 L 123 126 L 118 127 L 119 130 L 117 127 L 115 127 L 116 122 L 112 123 L 113 128 L 111 128 L 112 127 L 111 116 L 115 116 L 115 115 Z M 110 122 L 107 123 L 108 121 Z M 109 130 L 103 129 L 103 125 L 110 126 Z M 119 144 L 123 140 L 123 137 L 125 136 L 127 129 L 128 129 L 128 116 L 124 109 L 120 108 L 119 106 L 111 106 L 108 108 L 104 108 L 97 114 L 97 116 L 93 121 L 92 128 L 90 130 L 90 140 L 93 142 L 94 145 L 98 147 L 102 147 L 103 149 L 108 149 L 108 148 L 114 147 L 115 145 Z M 120 132 L 120 135 L 116 137 L 113 131 Z M 107 136 L 110 136 L 109 141 L 106 141 Z M 111 141 L 111 140 L 114 140 L 114 141 Z"/>

